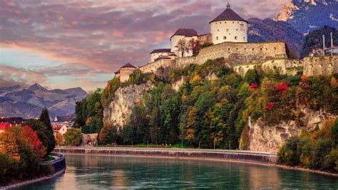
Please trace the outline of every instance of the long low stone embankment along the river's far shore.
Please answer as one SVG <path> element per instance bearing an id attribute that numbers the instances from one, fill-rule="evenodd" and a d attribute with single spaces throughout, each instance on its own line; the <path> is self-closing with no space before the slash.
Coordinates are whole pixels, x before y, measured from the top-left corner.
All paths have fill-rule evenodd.
<path id="1" fill-rule="evenodd" d="M 230 151 L 217 149 L 151 149 L 113 147 L 65 147 L 54 149 L 58 154 L 103 154 L 113 156 L 151 156 L 182 159 L 217 159 L 275 164 L 276 154 L 260 151 Z"/>

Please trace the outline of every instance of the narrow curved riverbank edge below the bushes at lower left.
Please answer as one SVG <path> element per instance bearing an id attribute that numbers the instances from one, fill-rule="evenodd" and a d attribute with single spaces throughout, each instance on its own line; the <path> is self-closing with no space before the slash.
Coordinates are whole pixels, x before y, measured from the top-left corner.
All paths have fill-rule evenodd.
<path id="1" fill-rule="evenodd" d="M 54 160 L 53 161 L 43 161 L 40 165 L 42 167 L 53 167 L 53 174 L 49 174 L 48 176 L 41 176 L 35 179 L 28 179 L 21 182 L 16 182 L 13 184 L 7 184 L 6 186 L 0 186 L 1 189 L 17 189 L 21 186 L 26 186 L 28 184 L 34 184 L 36 182 L 53 179 L 54 177 L 60 176 L 66 171 L 66 159 L 64 155 L 60 154 L 52 154 Z"/>

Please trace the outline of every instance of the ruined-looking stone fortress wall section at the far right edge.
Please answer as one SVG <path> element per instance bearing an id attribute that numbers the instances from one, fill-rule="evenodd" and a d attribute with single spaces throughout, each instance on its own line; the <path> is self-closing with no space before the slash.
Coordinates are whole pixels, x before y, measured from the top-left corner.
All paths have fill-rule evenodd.
<path id="1" fill-rule="evenodd" d="M 313 56 L 303 60 L 304 75 L 317 76 L 338 73 L 338 56 Z"/>

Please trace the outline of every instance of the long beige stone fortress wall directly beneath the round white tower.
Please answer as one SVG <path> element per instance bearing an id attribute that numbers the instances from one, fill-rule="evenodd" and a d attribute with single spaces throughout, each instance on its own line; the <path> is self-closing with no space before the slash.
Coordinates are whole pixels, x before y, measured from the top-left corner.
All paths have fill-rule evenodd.
<path id="1" fill-rule="evenodd" d="M 220 57 L 228 59 L 230 65 L 235 66 L 240 63 L 260 63 L 263 60 L 273 57 L 285 58 L 287 55 L 285 51 L 285 42 L 225 42 L 201 49 L 196 57 L 196 64 L 204 64 L 208 59 L 217 59 Z"/>

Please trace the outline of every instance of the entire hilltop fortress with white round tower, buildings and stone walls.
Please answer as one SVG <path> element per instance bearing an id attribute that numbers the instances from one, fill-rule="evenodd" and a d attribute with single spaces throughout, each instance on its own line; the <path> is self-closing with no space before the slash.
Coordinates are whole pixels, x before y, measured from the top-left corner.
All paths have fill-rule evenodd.
<path id="1" fill-rule="evenodd" d="M 248 22 L 232 11 L 230 4 L 209 24 L 210 34 L 198 35 L 195 29 L 178 29 L 170 37 L 170 49 L 154 49 L 150 52 L 150 63 L 138 69 L 142 73 L 155 73 L 160 68 L 184 68 L 224 57 L 225 64 L 241 76 L 257 67 L 264 71 L 279 69 L 281 74 L 290 75 L 303 71 L 306 76 L 338 72 L 337 55 L 292 60 L 287 57 L 284 41 L 247 42 Z M 199 49 L 199 46 L 204 48 Z M 121 82 L 125 82 L 135 69 L 128 63 L 115 74 Z"/>

